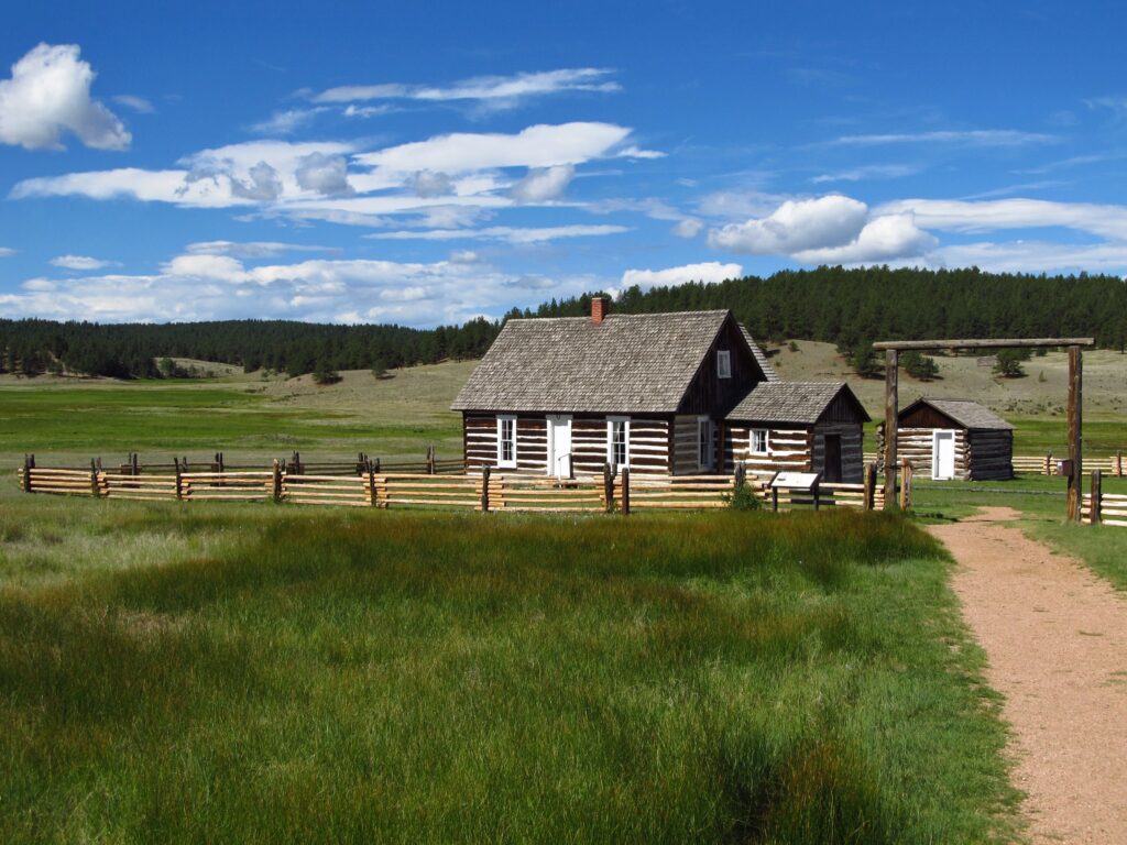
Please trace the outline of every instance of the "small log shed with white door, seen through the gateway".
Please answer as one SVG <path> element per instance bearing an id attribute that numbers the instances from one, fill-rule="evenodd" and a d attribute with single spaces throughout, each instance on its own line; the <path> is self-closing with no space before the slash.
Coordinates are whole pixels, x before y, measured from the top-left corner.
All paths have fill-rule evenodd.
<path id="1" fill-rule="evenodd" d="M 884 424 L 877 428 L 884 453 Z M 969 399 L 924 397 L 899 412 L 896 454 L 937 481 L 1013 478 L 1013 426 Z"/>

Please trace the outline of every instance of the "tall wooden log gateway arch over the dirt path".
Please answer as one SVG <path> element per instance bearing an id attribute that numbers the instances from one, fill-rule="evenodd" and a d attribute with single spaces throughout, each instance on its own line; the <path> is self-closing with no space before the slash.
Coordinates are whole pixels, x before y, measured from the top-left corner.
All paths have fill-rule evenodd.
<path id="1" fill-rule="evenodd" d="M 1095 346 L 1094 338 L 1026 338 L 962 340 L 884 340 L 873 349 L 885 352 L 885 501 L 896 499 L 896 435 L 899 428 L 897 374 L 899 354 L 926 349 L 1009 349 L 1022 347 L 1068 347 L 1068 519 L 1080 522 L 1083 463 L 1083 374 L 1082 349 Z"/>

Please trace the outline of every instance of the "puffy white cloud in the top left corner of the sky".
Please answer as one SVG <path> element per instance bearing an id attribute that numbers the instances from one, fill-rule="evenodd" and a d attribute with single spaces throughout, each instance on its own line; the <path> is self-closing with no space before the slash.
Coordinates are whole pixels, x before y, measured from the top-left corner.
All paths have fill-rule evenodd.
<path id="1" fill-rule="evenodd" d="M 0 80 L 0 143 L 26 150 L 61 150 L 73 133 L 97 150 L 125 150 L 132 136 L 98 100 L 90 99 L 95 72 L 77 44 L 39 44 Z"/>

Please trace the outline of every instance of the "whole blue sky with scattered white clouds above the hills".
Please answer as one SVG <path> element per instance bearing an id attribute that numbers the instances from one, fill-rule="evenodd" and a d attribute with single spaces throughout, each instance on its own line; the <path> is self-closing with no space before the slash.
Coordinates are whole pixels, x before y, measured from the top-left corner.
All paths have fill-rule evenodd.
<path id="1" fill-rule="evenodd" d="M 1127 272 L 1117 3 L 163 6 L 6 12 L 0 315 Z"/>

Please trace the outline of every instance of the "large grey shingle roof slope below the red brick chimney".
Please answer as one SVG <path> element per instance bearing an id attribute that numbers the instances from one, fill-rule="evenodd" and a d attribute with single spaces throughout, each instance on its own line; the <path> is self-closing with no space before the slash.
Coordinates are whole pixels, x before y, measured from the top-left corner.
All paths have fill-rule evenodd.
<path id="1" fill-rule="evenodd" d="M 610 314 L 597 326 L 587 317 L 509 320 L 451 407 L 673 413 L 729 315 Z"/>

